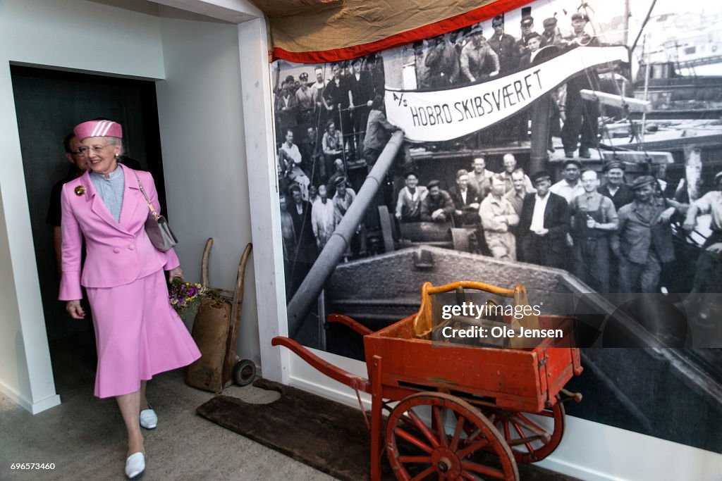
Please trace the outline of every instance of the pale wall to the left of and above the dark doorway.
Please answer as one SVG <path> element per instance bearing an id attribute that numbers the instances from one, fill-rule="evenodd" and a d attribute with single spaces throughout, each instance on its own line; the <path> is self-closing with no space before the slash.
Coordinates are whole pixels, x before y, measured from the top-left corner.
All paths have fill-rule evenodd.
<path id="1" fill-rule="evenodd" d="M 10 63 L 164 76 L 157 7 L 0 2 L 0 390 L 31 412 L 57 405 L 30 231 Z M 138 11 L 139 10 L 139 11 Z"/>

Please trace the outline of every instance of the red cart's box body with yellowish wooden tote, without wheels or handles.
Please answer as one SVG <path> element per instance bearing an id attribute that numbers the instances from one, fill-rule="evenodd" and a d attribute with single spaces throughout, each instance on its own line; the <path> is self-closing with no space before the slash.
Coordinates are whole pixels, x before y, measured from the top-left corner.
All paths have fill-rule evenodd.
<path id="1" fill-rule="evenodd" d="M 428 328 L 419 332 L 419 325 L 435 324 L 419 319 L 431 315 L 426 303 L 430 303 L 430 296 L 434 294 L 462 286 L 490 288 L 471 282 L 440 288 L 427 283 L 419 314 L 364 337 L 367 365 L 373 356 L 383 359 L 381 384 L 384 390 L 414 384 L 439 390 L 461 390 L 487 397 L 498 407 L 529 412 L 539 412 L 556 404 L 560 389 L 572 376 L 581 373 L 579 350 L 573 348 L 575 319 L 539 316 L 540 330 L 562 329 L 563 337 L 546 337 L 534 348 L 470 348 L 453 342 L 430 342 L 425 338 Z M 500 294 L 508 295 L 508 292 L 500 291 Z M 511 319 L 506 320 L 511 325 Z"/>

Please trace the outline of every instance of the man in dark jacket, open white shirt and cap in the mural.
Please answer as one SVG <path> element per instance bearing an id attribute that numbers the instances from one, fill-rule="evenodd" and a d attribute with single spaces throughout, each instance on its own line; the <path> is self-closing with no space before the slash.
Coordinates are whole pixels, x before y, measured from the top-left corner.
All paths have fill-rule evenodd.
<path id="1" fill-rule="evenodd" d="M 552 176 L 539 171 L 531 176 L 536 193 L 524 198 L 519 216 L 518 234 L 521 236 L 521 260 L 551 268 L 567 268 L 569 249 L 569 207 L 561 196 L 549 192 Z"/>

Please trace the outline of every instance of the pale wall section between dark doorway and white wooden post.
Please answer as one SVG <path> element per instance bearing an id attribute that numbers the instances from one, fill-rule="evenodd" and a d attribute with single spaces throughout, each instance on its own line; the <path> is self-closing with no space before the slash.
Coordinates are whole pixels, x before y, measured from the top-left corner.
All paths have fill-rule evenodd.
<path id="1" fill-rule="evenodd" d="M 166 12 L 161 7 L 161 14 Z M 168 215 L 186 278 L 200 280 L 201 254 L 214 244 L 210 285 L 235 286 L 241 252 L 251 242 L 243 135 L 238 26 L 161 19 L 165 80 L 157 83 Z M 245 272 L 238 343 L 260 363 L 253 257 Z"/>

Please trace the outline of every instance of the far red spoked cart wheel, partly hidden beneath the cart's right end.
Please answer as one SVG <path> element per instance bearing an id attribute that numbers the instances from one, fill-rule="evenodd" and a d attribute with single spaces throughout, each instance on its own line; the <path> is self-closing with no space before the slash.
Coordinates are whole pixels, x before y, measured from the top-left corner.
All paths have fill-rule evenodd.
<path id="1" fill-rule="evenodd" d="M 511 447 L 514 458 L 520 463 L 535 463 L 552 454 L 564 435 L 564 405 L 557 401 L 551 409 L 535 413 L 536 416 L 551 418 L 553 426 L 544 428 L 534 422 L 528 412 L 495 411 L 492 418 L 496 428 L 503 433 Z M 551 431 L 551 432 L 550 432 Z"/>

